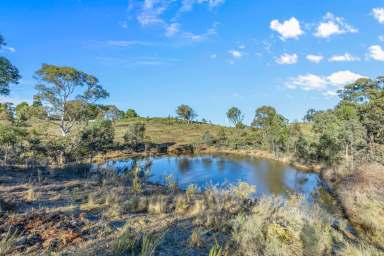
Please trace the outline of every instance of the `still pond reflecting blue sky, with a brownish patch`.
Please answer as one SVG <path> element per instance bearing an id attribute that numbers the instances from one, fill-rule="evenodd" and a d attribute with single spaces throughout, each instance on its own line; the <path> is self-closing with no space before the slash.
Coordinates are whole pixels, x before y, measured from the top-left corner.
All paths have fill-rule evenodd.
<path id="1" fill-rule="evenodd" d="M 165 184 L 165 178 L 169 175 L 182 189 L 190 184 L 204 189 L 210 185 L 225 187 L 244 181 L 256 186 L 255 197 L 285 197 L 290 193 L 298 193 L 309 202 L 318 202 L 326 208 L 333 205 L 317 173 L 300 171 L 274 160 L 238 155 L 161 156 L 112 160 L 105 165 L 120 169 L 134 163 L 145 165 L 148 162 L 151 163 L 149 181 L 152 183 Z"/>

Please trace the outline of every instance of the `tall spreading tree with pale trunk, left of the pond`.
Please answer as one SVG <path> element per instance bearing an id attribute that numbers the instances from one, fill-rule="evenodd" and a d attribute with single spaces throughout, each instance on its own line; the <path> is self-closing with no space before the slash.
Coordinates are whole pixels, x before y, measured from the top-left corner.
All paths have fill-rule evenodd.
<path id="1" fill-rule="evenodd" d="M 96 77 L 72 67 L 43 64 L 35 77 L 39 81 L 36 85 L 38 95 L 46 104 L 50 116 L 59 119 L 64 137 L 78 121 L 71 115 L 71 102 L 76 100 L 90 104 L 109 96 Z"/>

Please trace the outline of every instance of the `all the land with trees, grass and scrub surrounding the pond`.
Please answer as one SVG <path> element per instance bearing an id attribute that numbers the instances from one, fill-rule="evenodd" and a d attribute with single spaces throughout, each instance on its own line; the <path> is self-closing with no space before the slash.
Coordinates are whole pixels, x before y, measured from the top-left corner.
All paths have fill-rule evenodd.
<path id="1" fill-rule="evenodd" d="M 0 57 L 0 93 L 20 78 Z M 246 124 L 237 107 L 223 109 L 233 127 L 185 104 L 163 118 L 99 104 L 102 83 L 73 67 L 43 64 L 35 79 L 32 104 L 0 104 L 1 256 L 384 255 L 384 77 L 346 85 L 335 108 L 302 121 L 261 106 Z M 90 168 L 207 149 L 317 166 L 344 216 L 300 195 L 253 199 L 257 188 L 241 182 L 182 191 L 171 178 L 148 183 L 139 166 Z"/>

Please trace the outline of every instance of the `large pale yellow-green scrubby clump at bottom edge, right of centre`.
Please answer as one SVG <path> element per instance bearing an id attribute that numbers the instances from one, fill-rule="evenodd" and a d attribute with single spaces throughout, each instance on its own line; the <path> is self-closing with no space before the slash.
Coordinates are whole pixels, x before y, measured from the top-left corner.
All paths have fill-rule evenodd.
<path id="1" fill-rule="evenodd" d="M 330 254 L 330 220 L 290 200 L 262 198 L 250 215 L 234 220 L 232 236 L 241 255 Z"/>

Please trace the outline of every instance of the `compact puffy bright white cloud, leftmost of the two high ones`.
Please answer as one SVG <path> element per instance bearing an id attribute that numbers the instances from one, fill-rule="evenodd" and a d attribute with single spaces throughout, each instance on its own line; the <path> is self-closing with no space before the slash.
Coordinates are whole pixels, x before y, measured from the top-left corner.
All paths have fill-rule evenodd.
<path id="1" fill-rule="evenodd" d="M 277 31 L 280 34 L 280 38 L 283 40 L 290 38 L 297 39 L 304 33 L 301 30 L 300 22 L 295 17 L 292 17 L 283 23 L 280 23 L 279 20 L 272 20 L 270 28 Z"/>

